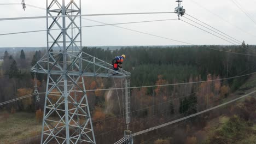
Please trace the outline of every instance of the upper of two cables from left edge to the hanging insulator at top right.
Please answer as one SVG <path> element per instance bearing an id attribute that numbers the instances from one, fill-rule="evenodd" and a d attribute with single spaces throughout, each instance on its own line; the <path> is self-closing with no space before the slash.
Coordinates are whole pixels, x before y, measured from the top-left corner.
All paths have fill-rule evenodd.
<path id="1" fill-rule="evenodd" d="M 31 6 L 31 5 L 30 5 Z M 36 8 L 36 7 L 34 7 Z M 56 17 L 72 17 L 72 16 L 112 16 L 112 15 L 146 15 L 146 14 L 172 14 L 174 12 L 153 12 L 153 13 L 118 13 L 118 14 L 86 14 L 86 15 L 56 15 L 56 16 L 30 16 L 30 17 L 8 17 L 2 18 L 0 21 L 10 20 L 28 20 L 28 19 L 46 19 Z"/>

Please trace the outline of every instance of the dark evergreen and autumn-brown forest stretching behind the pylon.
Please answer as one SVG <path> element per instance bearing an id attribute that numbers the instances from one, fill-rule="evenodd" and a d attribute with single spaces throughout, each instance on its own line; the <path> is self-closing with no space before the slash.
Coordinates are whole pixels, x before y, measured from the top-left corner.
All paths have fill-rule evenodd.
<path id="1" fill-rule="evenodd" d="M 123 69 L 131 72 L 131 87 L 142 87 L 131 88 L 130 129 L 137 132 L 206 110 L 250 91 L 256 84 L 254 81 L 248 84 L 256 70 L 256 57 L 253 56 L 256 55 L 255 48 L 243 42 L 239 46 L 124 46 L 116 50 L 83 47 L 83 51 L 108 63 L 111 63 L 114 56 L 126 55 Z M 30 68 L 44 53 L 43 50 L 26 52 L 25 49 L 16 55 L 8 51 L 2 53 L 0 103 L 33 93 L 35 77 Z M 36 75 L 39 92 L 45 92 L 46 78 L 43 74 Z M 85 77 L 85 80 L 88 90 L 123 87 L 122 79 L 112 77 Z M 191 83 L 169 85 L 185 82 Z M 97 143 L 118 141 L 126 128 L 123 91 L 90 91 L 87 95 Z M 31 134 L 23 137 L 22 128 L 19 133 L 10 135 L 0 132 L 0 141 L 39 141 L 45 95 L 39 96 L 39 101 L 36 97 L 28 97 L 0 105 L 0 131 L 4 131 L 1 130 L 1 125 L 4 125 L 1 123 L 14 122 L 11 119 L 19 117 L 20 113 L 29 115 L 29 122 L 36 127 L 28 132 Z M 230 107 L 136 136 L 134 140 L 135 143 L 153 144 L 256 142 L 255 105 L 256 100 L 250 97 Z M 224 119 L 224 122 L 217 130 L 211 129 L 211 134 L 198 132 L 207 126 L 208 121 L 219 116 L 222 116 L 220 119 Z M 243 137 L 238 136 L 241 134 Z M 249 137 L 247 141 L 245 137 Z"/>

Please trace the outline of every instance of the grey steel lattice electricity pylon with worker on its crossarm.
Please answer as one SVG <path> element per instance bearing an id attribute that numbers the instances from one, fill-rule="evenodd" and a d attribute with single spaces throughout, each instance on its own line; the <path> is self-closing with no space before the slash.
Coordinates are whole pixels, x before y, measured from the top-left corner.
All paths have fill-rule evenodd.
<path id="1" fill-rule="evenodd" d="M 112 76 L 112 65 L 82 51 L 81 0 L 46 0 L 47 52 L 31 71 L 47 74 L 41 143 L 96 143 L 84 76 Z M 53 31 L 54 29 L 54 31 Z M 60 29 L 60 30 L 56 30 Z M 126 123 L 130 123 L 130 82 Z"/>

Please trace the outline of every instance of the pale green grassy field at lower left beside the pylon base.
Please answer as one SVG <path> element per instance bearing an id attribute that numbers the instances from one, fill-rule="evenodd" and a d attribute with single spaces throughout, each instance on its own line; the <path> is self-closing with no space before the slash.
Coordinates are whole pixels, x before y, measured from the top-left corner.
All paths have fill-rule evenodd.
<path id="1" fill-rule="evenodd" d="M 9 117 L 9 118 L 8 118 Z M 12 143 L 39 135 L 42 123 L 37 123 L 33 113 L 0 113 L 0 143 Z"/>

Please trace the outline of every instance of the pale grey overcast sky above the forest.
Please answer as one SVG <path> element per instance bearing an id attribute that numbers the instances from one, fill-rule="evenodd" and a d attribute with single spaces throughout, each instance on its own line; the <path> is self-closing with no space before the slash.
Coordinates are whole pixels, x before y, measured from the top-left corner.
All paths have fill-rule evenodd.
<path id="1" fill-rule="evenodd" d="M 233 0 L 234 1 L 234 0 Z M 236 0 L 246 9 L 252 19 L 256 22 L 256 0 Z M 20 3 L 21 0 L 0 0 L 0 3 Z M 46 0 L 25 0 L 27 4 L 38 7 L 46 7 Z M 212 11 L 210 13 L 198 4 Z M 256 24 L 253 23 L 232 0 L 184 0 L 182 5 L 186 13 L 195 16 L 197 19 L 208 23 L 220 31 L 247 44 L 256 44 Z M 177 7 L 175 0 L 82 0 L 82 14 L 102 13 L 137 13 L 137 12 L 158 12 L 174 11 Z M 42 9 L 27 7 L 23 11 L 21 5 L 0 5 L 0 18 L 24 17 L 24 16 L 45 16 Z M 122 15 L 122 16 L 94 16 L 88 17 L 106 23 L 175 19 L 176 14 L 155 14 L 155 15 Z M 183 20 L 186 20 L 182 18 Z M 82 20 L 82 26 L 98 25 L 98 23 Z M 185 41 L 196 45 L 230 45 L 230 43 L 214 37 L 211 34 L 201 31 L 182 21 L 162 21 L 148 23 L 134 23 L 121 25 L 122 27 L 135 29 L 142 32 L 152 33 L 161 37 Z M 242 31 L 239 29 L 241 28 Z M 33 31 L 46 29 L 45 19 L 0 21 L 0 34 L 22 31 Z M 83 28 L 83 46 L 111 46 L 111 45 L 184 45 L 176 41 L 152 37 L 150 35 L 127 31 L 112 26 Z M 0 35 L 0 47 L 21 47 L 21 46 L 46 46 L 46 32 Z"/>

